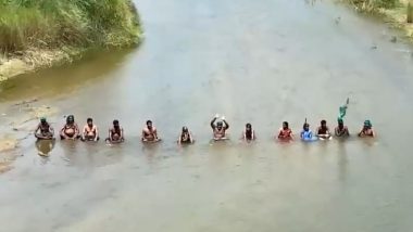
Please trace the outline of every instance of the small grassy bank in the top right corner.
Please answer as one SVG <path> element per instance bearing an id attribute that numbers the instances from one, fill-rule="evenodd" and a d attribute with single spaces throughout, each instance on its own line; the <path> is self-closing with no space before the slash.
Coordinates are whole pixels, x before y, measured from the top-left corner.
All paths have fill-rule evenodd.
<path id="1" fill-rule="evenodd" d="M 355 10 L 381 15 L 413 41 L 413 0 L 346 0 Z"/>

